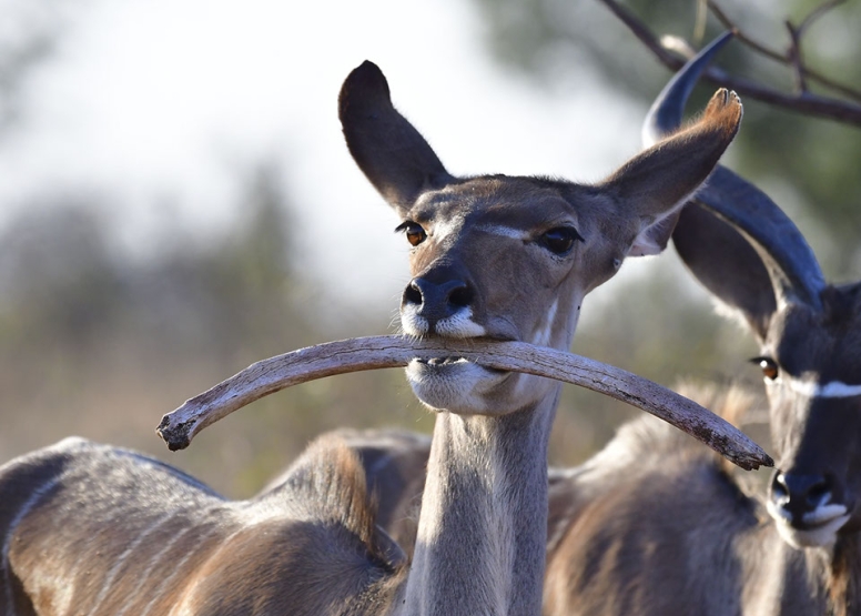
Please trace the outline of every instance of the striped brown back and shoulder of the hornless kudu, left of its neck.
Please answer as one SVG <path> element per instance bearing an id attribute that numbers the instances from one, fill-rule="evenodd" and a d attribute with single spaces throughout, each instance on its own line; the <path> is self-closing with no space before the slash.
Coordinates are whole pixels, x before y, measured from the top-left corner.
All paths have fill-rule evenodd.
<path id="1" fill-rule="evenodd" d="M 156 460 L 68 438 L 0 467 L 0 614 L 377 614 L 405 563 L 369 503 L 336 438 L 235 502 Z M 333 570 L 351 575 L 321 585 Z"/>

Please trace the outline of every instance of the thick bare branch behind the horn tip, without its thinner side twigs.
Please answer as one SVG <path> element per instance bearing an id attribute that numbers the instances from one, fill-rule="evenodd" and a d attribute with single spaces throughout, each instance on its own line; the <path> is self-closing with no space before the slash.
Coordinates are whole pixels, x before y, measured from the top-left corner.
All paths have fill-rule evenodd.
<path id="1" fill-rule="evenodd" d="M 621 7 L 616 0 L 600 0 L 600 2 L 610 9 L 664 65 L 673 71 L 682 67 L 685 59 L 666 50 L 660 44 L 658 38 L 628 9 Z M 809 71 L 807 74 L 810 77 Z M 762 101 L 816 118 L 837 120 L 861 127 L 861 104 L 852 101 L 821 97 L 811 92 L 786 94 L 751 80 L 731 77 L 715 67 L 709 68 L 705 72 L 703 79 L 716 85 L 735 90 L 748 99 Z"/>

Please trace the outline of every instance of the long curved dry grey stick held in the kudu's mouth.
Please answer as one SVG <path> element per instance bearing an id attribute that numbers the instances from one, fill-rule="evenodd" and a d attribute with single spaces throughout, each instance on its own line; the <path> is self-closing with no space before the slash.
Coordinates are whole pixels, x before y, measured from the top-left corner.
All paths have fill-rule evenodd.
<path id="1" fill-rule="evenodd" d="M 416 359 L 455 355 L 483 366 L 565 381 L 642 408 L 751 469 L 773 462 L 739 430 L 690 400 L 624 370 L 523 342 L 350 339 L 300 349 L 252 364 L 162 417 L 156 432 L 172 451 L 188 447 L 207 425 L 291 385 L 346 372 L 405 366 Z"/>

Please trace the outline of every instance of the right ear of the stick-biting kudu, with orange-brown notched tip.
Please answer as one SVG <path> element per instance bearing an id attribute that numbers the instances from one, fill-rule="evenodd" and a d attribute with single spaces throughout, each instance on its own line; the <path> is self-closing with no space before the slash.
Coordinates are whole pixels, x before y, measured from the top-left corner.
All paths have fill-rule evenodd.
<path id="1" fill-rule="evenodd" d="M 629 256 L 657 254 L 667 246 L 679 210 L 706 181 L 738 132 L 741 101 L 718 90 L 695 123 L 625 163 L 601 184 L 639 216 Z"/>

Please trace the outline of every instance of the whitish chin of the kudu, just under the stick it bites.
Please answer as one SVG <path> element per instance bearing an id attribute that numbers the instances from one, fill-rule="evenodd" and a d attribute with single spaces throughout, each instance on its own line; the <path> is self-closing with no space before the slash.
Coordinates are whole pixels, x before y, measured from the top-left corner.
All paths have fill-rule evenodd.
<path id="1" fill-rule="evenodd" d="M 485 412 L 485 394 L 507 376 L 463 359 L 438 364 L 413 360 L 406 366 L 407 381 L 425 405 L 465 414 Z"/>

